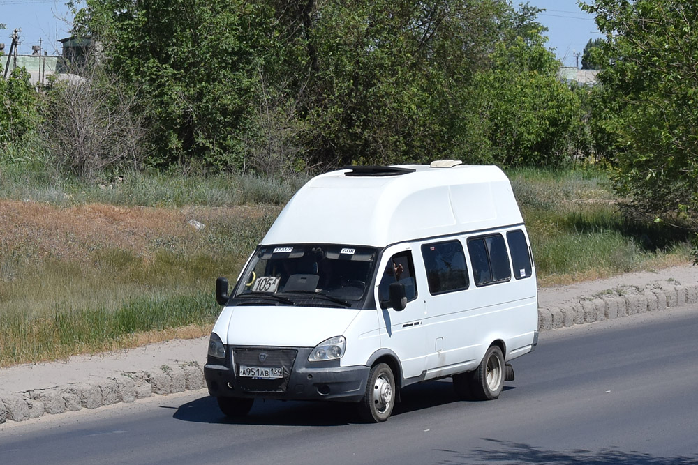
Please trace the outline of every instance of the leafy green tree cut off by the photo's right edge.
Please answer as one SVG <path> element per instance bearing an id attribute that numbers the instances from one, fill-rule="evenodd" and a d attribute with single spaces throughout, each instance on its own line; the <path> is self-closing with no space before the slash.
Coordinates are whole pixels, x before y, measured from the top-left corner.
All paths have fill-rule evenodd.
<path id="1" fill-rule="evenodd" d="M 698 5 L 596 0 L 606 40 L 597 126 L 632 212 L 698 227 Z"/>

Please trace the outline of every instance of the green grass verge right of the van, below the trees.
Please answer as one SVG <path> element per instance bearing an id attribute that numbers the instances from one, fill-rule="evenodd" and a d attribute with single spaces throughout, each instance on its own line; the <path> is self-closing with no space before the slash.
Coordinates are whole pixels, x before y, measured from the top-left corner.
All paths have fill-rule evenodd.
<path id="1" fill-rule="evenodd" d="M 686 231 L 625 219 L 603 171 L 521 169 L 509 175 L 539 284 L 569 284 L 690 259 Z"/>

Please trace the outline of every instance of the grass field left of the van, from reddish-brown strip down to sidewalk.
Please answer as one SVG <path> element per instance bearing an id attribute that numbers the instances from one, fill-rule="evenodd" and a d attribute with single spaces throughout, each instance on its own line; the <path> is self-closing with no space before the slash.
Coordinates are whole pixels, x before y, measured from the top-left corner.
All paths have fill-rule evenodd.
<path id="1" fill-rule="evenodd" d="M 0 201 L 0 366 L 207 334 L 279 209 Z"/>

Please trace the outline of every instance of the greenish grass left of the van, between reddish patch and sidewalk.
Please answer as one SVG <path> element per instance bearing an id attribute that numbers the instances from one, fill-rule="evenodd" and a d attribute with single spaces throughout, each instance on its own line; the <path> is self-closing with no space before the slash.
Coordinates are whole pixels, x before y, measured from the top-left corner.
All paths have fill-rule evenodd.
<path id="1" fill-rule="evenodd" d="M 207 334 L 220 312 L 216 277 L 235 279 L 278 212 L 209 222 L 195 236 L 154 241 L 147 254 L 103 248 L 84 260 L 4 259 L 0 366 L 168 339 L 170 328 Z"/>

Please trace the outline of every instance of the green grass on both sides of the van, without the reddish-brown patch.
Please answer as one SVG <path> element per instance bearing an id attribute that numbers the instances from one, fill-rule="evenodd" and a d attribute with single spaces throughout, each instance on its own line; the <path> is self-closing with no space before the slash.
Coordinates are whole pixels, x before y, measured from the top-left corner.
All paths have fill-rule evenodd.
<path id="1" fill-rule="evenodd" d="M 528 225 L 539 282 L 567 284 L 686 263 L 685 234 L 623 218 L 602 171 L 509 172 Z M 307 176 L 125 173 L 84 183 L 36 165 L 0 166 L 0 198 L 56 208 L 104 203 L 162 208 L 250 206 L 213 215 L 196 234 L 158 236 L 144 250 L 93 247 L 40 255 L 25 238 L 0 257 L 0 366 L 205 335 L 219 307 L 214 281 L 235 280 L 281 206 Z M 243 210 L 244 211 L 244 210 Z M 69 238 L 66 238 L 68 240 Z"/>

